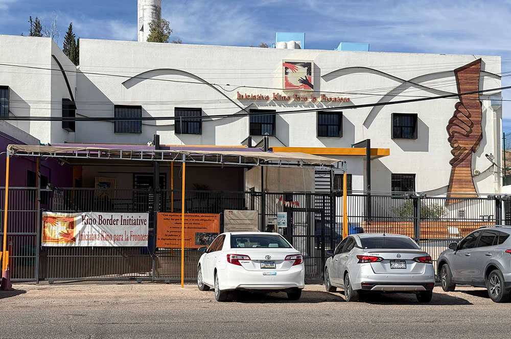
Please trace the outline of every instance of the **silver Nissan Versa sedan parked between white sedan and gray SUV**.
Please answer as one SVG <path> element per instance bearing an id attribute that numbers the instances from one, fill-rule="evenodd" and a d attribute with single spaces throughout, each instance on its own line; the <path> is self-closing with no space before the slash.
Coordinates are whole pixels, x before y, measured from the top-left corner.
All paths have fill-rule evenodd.
<path id="1" fill-rule="evenodd" d="M 360 291 L 415 293 L 419 302 L 431 301 L 435 286 L 431 256 L 407 236 L 352 234 L 327 255 L 325 288 L 343 289 L 346 301 L 357 301 Z"/>

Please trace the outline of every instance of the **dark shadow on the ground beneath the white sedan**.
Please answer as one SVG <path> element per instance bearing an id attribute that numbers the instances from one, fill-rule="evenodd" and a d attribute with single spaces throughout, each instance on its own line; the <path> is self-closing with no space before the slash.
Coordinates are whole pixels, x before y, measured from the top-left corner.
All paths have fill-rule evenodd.
<path id="1" fill-rule="evenodd" d="M 258 293 L 236 291 L 229 293 L 229 301 L 241 303 L 321 303 L 339 302 L 344 299 L 338 295 L 321 291 L 302 291 L 298 300 L 289 300 L 286 293 Z"/>

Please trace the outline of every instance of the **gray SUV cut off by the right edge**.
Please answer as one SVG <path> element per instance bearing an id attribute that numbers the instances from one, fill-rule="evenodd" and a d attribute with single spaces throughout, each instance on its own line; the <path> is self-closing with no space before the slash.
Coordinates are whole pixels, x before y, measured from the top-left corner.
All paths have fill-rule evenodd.
<path id="1" fill-rule="evenodd" d="M 485 287 L 495 302 L 506 302 L 511 292 L 510 226 L 480 227 L 452 243 L 438 257 L 442 289 L 454 291 L 456 284 Z"/>

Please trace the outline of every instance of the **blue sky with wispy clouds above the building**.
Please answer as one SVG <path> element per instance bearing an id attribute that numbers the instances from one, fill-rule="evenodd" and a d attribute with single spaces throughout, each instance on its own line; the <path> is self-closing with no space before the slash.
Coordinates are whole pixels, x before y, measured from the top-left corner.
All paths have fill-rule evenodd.
<path id="1" fill-rule="evenodd" d="M 29 16 L 49 27 L 56 14 L 60 46 L 69 22 L 77 37 L 136 40 L 136 9 L 136 0 L 0 0 L 0 34 L 28 35 Z M 511 72 L 511 0 L 162 0 L 162 17 L 171 40 L 183 43 L 257 46 L 274 42 L 275 32 L 305 32 L 308 49 L 343 41 L 370 51 L 497 55 L 504 75 Z M 502 96 L 511 99 L 511 90 Z M 511 132 L 511 101 L 503 116 Z"/>

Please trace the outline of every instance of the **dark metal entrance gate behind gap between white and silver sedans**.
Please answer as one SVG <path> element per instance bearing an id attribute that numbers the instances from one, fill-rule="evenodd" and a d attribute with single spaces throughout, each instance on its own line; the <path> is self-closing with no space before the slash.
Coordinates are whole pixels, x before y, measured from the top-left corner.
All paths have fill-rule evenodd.
<path id="1" fill-rule="evenodd" d="M 320 208 L 289 208 L 288 241 L 304 256 L 305 279 L 323 278 L 325 261 L 324 210 Z M 330 242 L 328 244 L 330 247 Z"/>

